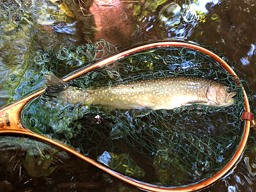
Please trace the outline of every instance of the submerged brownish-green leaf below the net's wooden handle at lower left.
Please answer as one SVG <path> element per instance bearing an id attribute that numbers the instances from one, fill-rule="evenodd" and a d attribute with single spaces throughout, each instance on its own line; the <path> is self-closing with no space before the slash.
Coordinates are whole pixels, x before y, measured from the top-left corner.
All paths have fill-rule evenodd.
<path id="1" fill-rule="evenodd" d="M 47 154 L 45 157 L 37 157 L 27 153 L 25 163 L 23 163 L 26 172 L 34 178 L 47 177 L 51 175 L 57 166 L 50 167 L 54 153 Z"/>

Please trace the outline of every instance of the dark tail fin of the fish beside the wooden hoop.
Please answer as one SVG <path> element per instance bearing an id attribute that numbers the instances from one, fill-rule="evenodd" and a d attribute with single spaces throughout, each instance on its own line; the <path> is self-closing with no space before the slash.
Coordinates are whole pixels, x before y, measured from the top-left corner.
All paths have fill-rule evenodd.
<path id="1" fill-rule="evenodd" d="M 69 88 L 69 84 L 58 77 L 45 73 L 45 96 L 57 97 L 62 91 Z"/>

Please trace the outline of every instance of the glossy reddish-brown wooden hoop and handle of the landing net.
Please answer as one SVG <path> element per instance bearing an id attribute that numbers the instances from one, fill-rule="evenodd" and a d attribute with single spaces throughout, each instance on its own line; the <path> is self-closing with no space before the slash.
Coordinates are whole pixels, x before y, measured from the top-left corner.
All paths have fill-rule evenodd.
<path id="1" fill-rule="evenodd" d="M 157 47 L 168 47 L 168 46 L 172 46 L 172 47 L 184 47 L 184 48 L 189 48 L 189 49 L 194 49 L 194 50 L 198 50 L 201 53 L 204 53 L 206 55 L 209 55 L 212 59 L 216 60 L 217 62 L 220 63 L 220 65 L 227 70 L 231 75 L 234 76 L 234 78 L 238 78 L 237 74 L 230 68 L 230 66 L 228 66 L 228 64 L 222 59 L 220 58 L 218 55 L 216 55 L 215 53 L 212 53 L 211 51 L 202 48 L 200 46 L 194 45 L 194 44 L 188 44 L 186 42 L 175 42 L 175 41 L 163 41 L 163 42 L 154 42 L 152 44 L 147 44 L 147 45 L 143 45 L 143 46 L 139 46 L 127 51 L 123 51 L 121 53 L 118 53 L 116 55 L 113 55 L 111 57 L 108 57 L 106 59 L 103 59 L 97 63 L 95 63 L 94 65 L 85 68 L 81 71 L 76 72 L 75 74 L 66 77 L 65 81 L 69 81 L 71 79 L 74 79 L 76 77 L 79 77 L 93 69 L 102 67 L 108 63 L 111 63 L 117 59 L 123 58 L 127 55 L 130 55 L 132 53 L 136 53 L 145 49 L 152 49 L 152 48 L 157 48 Z M 243 88 L 242 88 L 243 89 Z M 220 179 L 221 177 L 223 177 L 233 166 L 234 164 L 236 164 L 236 162 L 238 161 L 238 159 L 240 158 L 240 156 L 243 153 L 243 150 L 245 148 L 248 136 L 249 136 L 249 131 L 250 131 L 250 121 L 246 120 L 245 123 L 245 128 L 244 128 L 244 132 L 243 132 L 243 137 L 241 139 L 241 142 L 239 144 L 239 147 L 236 151 L 236 153 L 233 155 L 232 159 L 223 167 L 222 170 L 220 170 L 218 173 L 216 173 L 215 175 L 213 175 L 211 178 L 205 179 L 203 181 L 201 181 L 200 183 L 197 184 L 191 184 L 188 186 L 183 186 L 183 187 L 175 187 L 175 188 L 169 188 L 169 187 L 158 187 L 158 186 L 154 186 L 151 184 L 147 184 L 147 183 L 143 183 L 143 182 L 139 182 L 136 181 L 134 179 L 131 179 L 129 177 L 125 177 L 117 172 L 114 172 L 113 170 L 111 170 L 108 167 L 103 166 L 102 164 L 99 164 L 98 162 L 78 153 L 77 151 L 73 150 L 71 147 L 59 143 L 55 140 L 52 140 L 50 138 L 35 134 L 31 131 L 29 131 L 28 129 L 26 129 L 26 127 L 22 124 L 22 120 L 21 118 L 21 112 L 22 109 L 24 108 L 25 104 L 28 103 L 31 99 L 35 98 L 36 96 L 40 95 L 41 93 L 43 93 L 45 91 L 45 89 L 42 89 L 34 94 L 29 95 L 28 97 L 17 101 L 13 104 L 10 104 L 8 106 L 6 106 L 6 108 L 0 110 L 0 134 L 22 134 L 22 135 L 27 135 L 27 136 L 32 136 L 35 138 L 38 138 L 40 140 L 49 142 L 53 145 L 56 145 L 60 148 L 62 148 L 63 150 L 66 150 L 68 152 L 70 152 L 71 154 L 81 158 L 84 161 L 87 161 L 88 163 L 100 168 L 101 170 L 103 170 L 104 172 L 126 182 L 129 184 L 132 184 L 136 187 L 145 189 L 145 190 L 149 190 L 149 191 L 158 191 L 158 192 L 164 192 L 164 191 L 182 191 L 182 192 L 188 192 L 188 191 L 195 191 L 195 190 L 199 190 L 202 189 L 204 187 L 209 186 L 210 184 L 214 183 L 215 181 L 217 181 L 218 179 Z M 246 95 L 245 90 L 243 89 L 243 93 L 244 93 L 244 102 L 245 102 L 245 111 L 246 112 L 250 112 L 250 108 L 249 108 L 249 102 L 248 102 L 248 98 Z"/>

